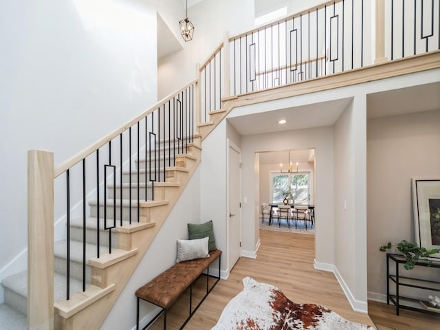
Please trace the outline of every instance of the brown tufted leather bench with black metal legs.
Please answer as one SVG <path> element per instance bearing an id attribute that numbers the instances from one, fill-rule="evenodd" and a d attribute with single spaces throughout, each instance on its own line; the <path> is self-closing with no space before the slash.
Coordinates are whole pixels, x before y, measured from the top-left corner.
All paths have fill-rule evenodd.
<path id="1" fill-rule="evenodd" d="M 211 292 L 214 286 L 220 279 L 220 250 L 214 250 L 209 253 L 210 256 L 205 259 L 195 259 L 190 261 L 184 261 L 181 263 L 176 263 L 173 267 L 168 268 L 165 272 L 156 276 L 150 282 L 146 283 L 146 285 L 140 287 L 136 290 L 135 295 L 137 297 L 137 314 L 136 314 L 136 329 L 139 329 L 139 301 L 140 299 L 148 301 L 148 303 L 152 303 L 156 306 L 161 307 L 161 311 L 148 323 L 143 329 L 149 327 L 159 316 L 164 314 L 164 329 L 166 329 L 166 311 L 168 308 L 173 305 L 175 300 L 179 298 L 179 296 L 188 288 L 191 288 L 190 294 L 190 315 L 185 320 L 184 325 L 181 326 L 182 329 L 186 323 L 190 320 L 192 315 L 197 311 L 197 308 L 203 303 L 206 296 Z M 204 270 L 208 270 L 207 274 L 209 274 L 209 266 L 216 260 L 219 259 L 219 276 L 214 276 L 217 278 L 217 281 L 209 288 L 209 276 L 206 276 L 206 294 L 195 307 L 193 311 L 191 311 L 191 300 L 192 300 L 192 283 L 203 273 Z"/>

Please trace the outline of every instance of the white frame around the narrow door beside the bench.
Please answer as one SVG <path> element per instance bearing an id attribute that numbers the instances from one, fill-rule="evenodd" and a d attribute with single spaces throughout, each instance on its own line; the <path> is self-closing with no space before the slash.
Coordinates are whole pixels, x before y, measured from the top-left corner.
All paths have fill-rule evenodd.
<path id="1" fill-rule="evenodd" d="M 229 225 L 229 221 L 230 221 L 230 207 L 229 207 L 229 197 L 230 197 L 230 193 L 229 193 L 229 189 L 230 189 L 230 184 L 229 184 L 229 174 L 230 174 L 230 148 L 234 149 L 234 151 L 236 151 L 237 153 L 239 153 L 239 201 L 241 202 L 241 148 L 239 146 L 237 146 L 236 144 L 234 144 L 234 142 L 232 142 L 230 139 L 228 139 L 228 152 L 226 153 L 226 208 L 227 208 L 227 213 L 226 213 L 226 247 L 228 250 L 228 253 L 226 254 L 226 264 L 228 265 L 228 274 L 227 274 L 227 278 L 231 272 L 231 270 L 229 269 L 229 261 L 230 261 L 230 251 L 229 251 L 229 239 L 230 239 L 230 225 Z M 236 214 L 236 216 L 239 217 L 239 239 L 240 242 L 242 241 L 242 230 L 241 230 L 241 207 L 239 208 L 239 212 L 238 214 Z M 242 254 L 242 247 L 240 246 L 239 248 L 239 258 L 241 257 Z"/>

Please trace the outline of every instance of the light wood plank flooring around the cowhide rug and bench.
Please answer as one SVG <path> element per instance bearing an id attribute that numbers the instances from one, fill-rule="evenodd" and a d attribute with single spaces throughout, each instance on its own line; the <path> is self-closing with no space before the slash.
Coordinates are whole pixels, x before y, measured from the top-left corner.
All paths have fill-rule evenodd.
<path id="1" fill-rule="evenodd" d="M 296 303 L 323 305 L 354 322 L 373 326 L 374 320 L 396 330 L 440 329 L 437 316 L 410 311 L 401 311 L 401 316 L 395 316 L 395 309 L 386 304 L 369 302 L 370 315 L 353 311 L 336 277 L 314 269 L 314 235 L 261 230 L 260 238 L 257 258 L 239 259 L 228 280 L 219 281 L 184 329 L 211 329 L 225 305 L 243 289 L 245 276 L 275 285 Z M 204 288 L 206 278 L 201 277 L 193 289 L 193 306 L 200 300 L 197 297 L 203 294 Z M 167 329 L 179 329 L 188 316 L 188 294 L 181 296 L 168 311 Z M 162 317 L 151 329 L 163 329 Z"/>

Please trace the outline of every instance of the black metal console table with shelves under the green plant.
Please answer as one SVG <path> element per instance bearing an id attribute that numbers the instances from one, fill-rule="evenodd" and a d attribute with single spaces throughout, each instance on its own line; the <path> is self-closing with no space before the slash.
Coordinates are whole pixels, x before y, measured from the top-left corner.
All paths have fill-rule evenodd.
<path id="1" fill-rule="evenodd" d="M 390 261 L 395 263 L 395 274 L 390 274 Z M 406 258 L 401 254 L 386 254 L 386 303 L 390 305 L 393 303 L 396 307 L 396 315 L 399 315 L 399 309 L 410 309 L 412 311 L 422 311 L 424 313 L 437 314 L 439 311 L 431 311 L 424 308 L 421 299 L 401 296 L 399 294 L 399 287 L 412 287 L 416 289 L 428 290 L 431 292 L 440 292 L 440 261 L 417 261 L 415 264 L 421 267 L 432 267 L 439 269 L 439 281 L 431 281 L 422 278 L 412 278 L 399 275 L 399 265 L 403 265 Z M 395 283 L 395 294 L 390 294 L 390 281 Z M 426 302 L 425 305 L 428 305 Z"/>

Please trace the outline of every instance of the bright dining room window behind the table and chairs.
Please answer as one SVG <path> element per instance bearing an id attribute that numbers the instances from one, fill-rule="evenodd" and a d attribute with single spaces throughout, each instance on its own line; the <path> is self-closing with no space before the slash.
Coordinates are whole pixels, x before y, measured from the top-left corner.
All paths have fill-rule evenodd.
<path id="1" fill-rule="evenodd" d="M 310 173 L 272 173 L 272 203 L 281 203 L 289 187 L 295 203 L 310 202 Z"/>

